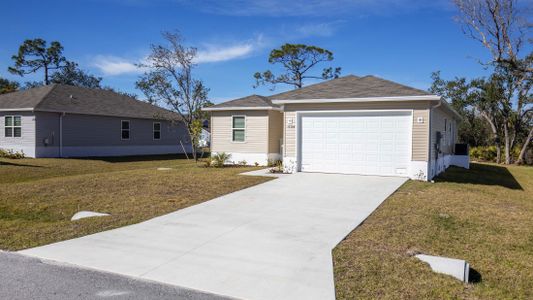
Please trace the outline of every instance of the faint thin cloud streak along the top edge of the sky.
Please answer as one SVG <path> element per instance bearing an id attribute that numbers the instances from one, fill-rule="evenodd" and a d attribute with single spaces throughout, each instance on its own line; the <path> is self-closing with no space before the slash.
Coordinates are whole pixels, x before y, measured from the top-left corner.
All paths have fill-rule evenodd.
<path id="1" fill-rule="evenodd" d="M 178 0 L 198 10 L 232 16 L 366 15 L 447 8 L 448 0 Z"/>

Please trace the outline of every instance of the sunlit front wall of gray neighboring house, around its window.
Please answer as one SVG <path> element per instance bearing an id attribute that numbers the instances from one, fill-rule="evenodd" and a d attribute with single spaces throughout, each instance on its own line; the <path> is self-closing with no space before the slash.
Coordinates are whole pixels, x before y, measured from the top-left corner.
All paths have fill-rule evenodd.
<path id="1" fill-rule="evenodd" d="M 21 137 L 5 137 L 5 116 L 21 116 Z M 0 112 L 0 148 L 35 157 L 35 115 L 33 112 Z"/>

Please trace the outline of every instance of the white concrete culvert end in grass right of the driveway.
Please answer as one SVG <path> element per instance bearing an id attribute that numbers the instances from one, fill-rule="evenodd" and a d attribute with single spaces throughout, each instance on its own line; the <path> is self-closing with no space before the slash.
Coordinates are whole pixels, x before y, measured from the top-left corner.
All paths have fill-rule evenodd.
<path id="1" fill-rule="evenodd" d="M 470 265 L 462 259 L 425 254 L 417 254 L 415 256 L 428 263 L 434 272 L 450 275 L 463 282 L 468 282 Z"/>

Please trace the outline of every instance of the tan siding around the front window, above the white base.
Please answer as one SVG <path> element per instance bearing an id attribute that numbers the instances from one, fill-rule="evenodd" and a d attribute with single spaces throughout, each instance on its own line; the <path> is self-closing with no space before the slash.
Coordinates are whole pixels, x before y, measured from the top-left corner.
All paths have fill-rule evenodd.
<path id="1" fill-rule="evenodd" d="M 246 116 L 244 143 L 232 142 L 231 116 Z M 211 149 L 213 152 L 267 153 L 268 111 L 221 111 L 211 115 Z"/>

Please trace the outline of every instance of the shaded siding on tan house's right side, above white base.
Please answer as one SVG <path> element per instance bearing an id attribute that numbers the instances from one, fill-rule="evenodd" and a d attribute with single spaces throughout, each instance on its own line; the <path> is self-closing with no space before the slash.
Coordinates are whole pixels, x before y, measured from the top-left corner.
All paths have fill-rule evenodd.
<path id="1" fill-rule="evenodd" d="M 435 159 L 437 131 L 440 131 L 442 134 L 440 147 L 442 154 L 451 154 L 453 152 L 453 147 L 457 138 L 457 121 L 453 118 L 454 116 L 451 113 L 446 112 L 442 107 L 437 107 L 431 112 L 431 160 Z M 444 128 L 444 123 L 450 124 L 450 122 L 452 124 L 452 131 L 450 131 L 449 128 Z"/>

